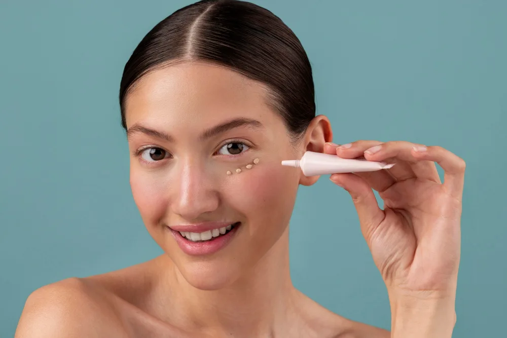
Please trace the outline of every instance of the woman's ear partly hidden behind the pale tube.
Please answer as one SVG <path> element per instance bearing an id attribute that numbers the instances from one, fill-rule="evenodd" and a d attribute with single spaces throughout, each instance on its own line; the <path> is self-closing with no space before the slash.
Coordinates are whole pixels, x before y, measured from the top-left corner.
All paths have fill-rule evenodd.
<path id="1" fill-rule="evenodd" d="M 329 119 L 323 115 L 316 116 L 306 130 L 301 143 L 301 155 L 303 155 L 304 152 L 322 153 L 324 151 L 324 144 L 326 142 L 331 142 L 332 139 L 333 131 L 331 130 Z M 307 177 L 301 172 L 299 183 L 302 185 L 312 185 L 319 177 L 320 176 Z"/>

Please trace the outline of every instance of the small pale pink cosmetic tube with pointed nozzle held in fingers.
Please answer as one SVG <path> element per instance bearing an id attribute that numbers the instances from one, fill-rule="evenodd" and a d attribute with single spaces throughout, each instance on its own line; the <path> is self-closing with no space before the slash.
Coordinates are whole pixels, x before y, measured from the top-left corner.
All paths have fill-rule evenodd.
<path id="1" fill-rule="evenodd" d="M 306 152 L 301 160 L 282 161 L 282 166 L 301 168 L 305 176 L 329 175 L 344 172 L 363 172 L 389 169 L 394 163 L 364 159 L 342 159 L 336 155 Z"/>

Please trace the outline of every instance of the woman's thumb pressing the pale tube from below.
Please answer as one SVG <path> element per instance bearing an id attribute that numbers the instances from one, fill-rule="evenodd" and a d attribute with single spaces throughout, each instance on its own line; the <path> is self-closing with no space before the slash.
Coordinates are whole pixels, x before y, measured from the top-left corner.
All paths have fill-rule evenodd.
<path id="1" fill-rule="evenodd" d="M 365 179 L 352 173 L 333 174 L 330 179 L 343 187 L 352 197 L 359 216 L 361 232 L 370 245 L 372 234 L 384 219 L 384 211 L 379 208 L 372 187 Z"/>

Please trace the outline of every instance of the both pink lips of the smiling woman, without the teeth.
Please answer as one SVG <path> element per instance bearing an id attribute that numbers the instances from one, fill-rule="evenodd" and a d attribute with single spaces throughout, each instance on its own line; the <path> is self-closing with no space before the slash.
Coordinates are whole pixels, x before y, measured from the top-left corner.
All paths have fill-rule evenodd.
<path id="1" fill-rule="evenodd" d="M 210 224 L 210 223 L 207 223 L 207 224 Z M 215 224 L 218 224 L 218 223 L 215 223 Z M 230 224 L 227 224 L 227 225 L 230 225 Z M 241 226 L 241 224 L 235 226 L 227 234 L 219 236 L 219 237 L 214 237 L 213 239 L 206 241 L 206 242 L 192 242 L 192 241 L 188 240 L 187 238 L 183 237 L 179 233 L 179 231 L 184 231 L 184 230 L 175 230 L 175 229 L 193 229 L 194 231 L 191 231 L 191 230 L 185 230 L 185 231 L 201 233 L 201 232 L 204 232 L 207 230 L 223 228 L 223 227 L 225 227 L 225 225 L 222 224 L 222 226 L 220 226 L 220 227 L 213 226 L 212 228 L 206 228 L 206 227 L 196 228 L 195 225 L 192 225 L 192 226 L 178 226 L 177 228 L 171 227 L 168 229 L 171 231 L 172 236 L 174 236 L 176 243 L 178 243 L 179 248 L 182 249 L 183 252 L 185 252 L 188 255 L 192 255 L 192 256 L 201 256 L 201 255 L 210 255 L 210 254 L 215 253 L 215 252 L 221 250 L 222 248 L 224 248 L 231 241 L 231 239 L 234 237 L 234 235 L 236 234 L 236 232 L 240 226 Z M 182 227 L 182 228 L 180 228 L 180 227 Z M 183 228 L 183 227 L 185 227 L 185 228 Z M 190 227 L 190 228 L 188 228 L 188 227 Z M 206 230 L 203 230 L 203 229 L 206 229 Z"/>

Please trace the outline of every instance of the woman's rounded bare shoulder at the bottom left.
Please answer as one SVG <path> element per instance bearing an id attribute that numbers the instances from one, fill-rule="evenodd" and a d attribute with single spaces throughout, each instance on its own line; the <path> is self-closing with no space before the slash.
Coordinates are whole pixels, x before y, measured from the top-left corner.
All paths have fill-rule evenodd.
<path id="1" fill-rule="evenodd" d="M 125 336 L 120 318 L 100 292 L 79 278 L 33 291 L 15 338 Z"/>

